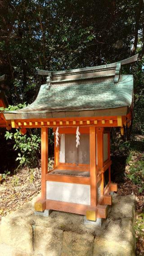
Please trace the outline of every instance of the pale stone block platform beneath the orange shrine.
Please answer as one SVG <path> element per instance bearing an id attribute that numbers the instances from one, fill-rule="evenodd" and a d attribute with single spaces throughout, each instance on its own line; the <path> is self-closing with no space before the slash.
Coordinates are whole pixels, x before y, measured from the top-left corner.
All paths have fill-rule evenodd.
<path id="1" fill-rule="evenodd" d="M 49 214 L 49 212 L 47 213 Z M 105 225 L 85 225 L 84 216 L 52 211 L 35 215 L 31 202 L 2 218 L 3 256 L 135 256 L 135 197 L 114 197 Z"/>

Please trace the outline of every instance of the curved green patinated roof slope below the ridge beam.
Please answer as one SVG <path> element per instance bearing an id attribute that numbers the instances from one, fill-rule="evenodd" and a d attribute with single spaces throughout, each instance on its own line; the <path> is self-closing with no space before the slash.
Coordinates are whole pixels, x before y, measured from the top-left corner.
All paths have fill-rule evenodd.
<path id="1" fill-rule="evenodd" d="M 50 89 L 47 89 L 47 84 L 41 85 L 38 96 L 31 105 L 4 115 L 6 117 L 10 113 L 28 115 L 41 112 L 130 107 L 132 94 L 133 75 L 120 75 L 117 83 L 113 82 L 113 77 L 53 82 Z"/>

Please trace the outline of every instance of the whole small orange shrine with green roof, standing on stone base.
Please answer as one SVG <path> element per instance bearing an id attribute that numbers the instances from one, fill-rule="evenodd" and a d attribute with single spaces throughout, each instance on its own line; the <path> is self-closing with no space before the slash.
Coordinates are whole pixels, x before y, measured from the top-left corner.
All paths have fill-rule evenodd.
<path id="1" fill-rule="evenodd" d="M 36 211 L 60 210 L 106 218 L 112 204 L 110 127 L 129 125 L 133 118 L 133 75 L 121 66 L 138 55 L 113 64 L 67 71 L 38 70 L 47 76 L 36 100 L 4 112 L 7 126 L 41 128 L 41 198 Z M 48 128 L 55 134 L 54 169 L 48 171 Z"/>

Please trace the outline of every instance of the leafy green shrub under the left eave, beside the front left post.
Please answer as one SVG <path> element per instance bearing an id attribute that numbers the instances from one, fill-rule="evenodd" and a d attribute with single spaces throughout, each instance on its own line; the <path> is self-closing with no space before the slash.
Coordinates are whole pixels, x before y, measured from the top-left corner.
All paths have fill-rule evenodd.
<path id="1" fill-rule="evenodd" d="M 16 159 L 16 161 L 19 160 L 19 166 L 26 165 L 35 167 L 38 164 L 40 154 L 40 137 L 38 135 L 31 133 L 23 136 L 16 130 L 16 133 L 9 133 L 9 131 L 7 131 L 5 137 L 6 140 L 14 139 L 14 150 L 21 152 L 18 153 Z"/>

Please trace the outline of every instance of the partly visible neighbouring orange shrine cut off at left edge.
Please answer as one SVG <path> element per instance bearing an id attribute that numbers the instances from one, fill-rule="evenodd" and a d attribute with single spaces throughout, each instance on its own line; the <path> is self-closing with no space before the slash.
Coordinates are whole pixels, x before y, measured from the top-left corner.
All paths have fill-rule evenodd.
<path id="1" fill-rule="evenodd" d="M 4 90 L 1 90 L 1 84 L 3 84 L 3 82 L 6 80 L 6 78 L 7 78 L 6 75 L 0 76 L 0 108 L 8 107 L 8 101 L 5 96 Z M 2 114 L 0 114 L 0 127 L 6 127 L 6 126 L 7 126 L 7 123 L 4 119 L 4 116 Z"/>

